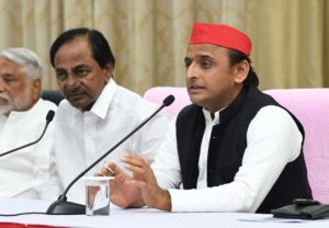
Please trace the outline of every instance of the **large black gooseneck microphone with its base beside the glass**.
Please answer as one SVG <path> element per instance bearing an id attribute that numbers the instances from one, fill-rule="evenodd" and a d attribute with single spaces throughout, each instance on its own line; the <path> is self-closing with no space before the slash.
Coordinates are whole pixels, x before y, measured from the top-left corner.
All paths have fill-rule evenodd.
<path id="1" fill-rule="evenodd" d="M 114 145 L 107 152 L 97 159 L 92 164 L 90 164 L 86 170 L 83 170 L 77 178 L 71 181 L 71 183 L 65 189 L 61 195 L 59 195 L 58 200 L 55 201 L 47 209 L 48 215 L 82 215 L 86 214 L 86 206 L 81 204 L 76 204 L 72 202 L 67 202 L 67 193 L 71 189 L 71 186 L 82 178 L 89 170 L 91 170 L 94 166 L 97 166 L 101 160 L 103 160 L 106 156 L 109 156 L 113 150 L 115 150 L 120 145 L 122 145 L 125 140 L 127 140 L 132 135 L 134 135 L 139 128 L 141 128 L 145 124 L 147 124 L 158 112 L 160 112 L 164 106 L 169 106 L 174 101 L 173 95 L 168 95 L 160 107 L 154 112 L 148 118 L 146 118 L 141 124 L 139 124 L 136 128 L 134 128 L 129 134 L 127 134 L 123 139 L 121 139 L 116 145 Z"/>

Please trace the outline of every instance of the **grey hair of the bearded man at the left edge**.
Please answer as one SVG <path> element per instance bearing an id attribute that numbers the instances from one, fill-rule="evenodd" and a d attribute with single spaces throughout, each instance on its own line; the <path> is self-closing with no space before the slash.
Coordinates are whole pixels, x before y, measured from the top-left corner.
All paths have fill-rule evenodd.
<path id="1" fill-rule="evenodd" d="M 19 64 L 25 69 L 30 79 L 42 80 L 44 76 L 44 67 L 37 55 L 24 47 L 8 48 L 0 53 L 0 57 L 4 57 L 10 61 Z"/>

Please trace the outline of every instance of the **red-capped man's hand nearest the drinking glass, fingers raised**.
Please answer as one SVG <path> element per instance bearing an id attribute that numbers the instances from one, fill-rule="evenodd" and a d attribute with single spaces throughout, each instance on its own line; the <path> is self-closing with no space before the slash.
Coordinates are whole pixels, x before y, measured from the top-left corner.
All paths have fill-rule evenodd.
<path id="1" fill-rule="evenodd" d="M 141 207 L 144 201 L 138 186 L 132 184 L 132 176 L 125 174 L 115 163 L 109 162 L 100 175 L 114 176 L 110 183 L 111 202 L 120 207 Z"/>

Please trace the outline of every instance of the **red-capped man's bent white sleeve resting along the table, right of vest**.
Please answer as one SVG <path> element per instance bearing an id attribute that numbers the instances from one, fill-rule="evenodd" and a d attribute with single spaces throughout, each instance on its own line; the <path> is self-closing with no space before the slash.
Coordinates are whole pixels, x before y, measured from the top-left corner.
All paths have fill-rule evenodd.
<path id="1" fill-rule="evenodd" d="M 261 109 L 248 127 L 247 148 L 234 181 L 215 187 L 169 190 L 172 212 L 256 212 L 286 163 L 298 157 L 302 140 L 285 110 Z"/>

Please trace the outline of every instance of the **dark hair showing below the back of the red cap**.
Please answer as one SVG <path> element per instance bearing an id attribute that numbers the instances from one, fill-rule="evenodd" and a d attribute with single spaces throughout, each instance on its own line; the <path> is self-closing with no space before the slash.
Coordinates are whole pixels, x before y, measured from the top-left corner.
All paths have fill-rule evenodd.
<path id="1" fill-rule="evenodd" d="M 228 58 L 229 58 L 230 66 L 234 66 L 235 64 L 238 64 L 242 60 L 247 60 L 250 65 L 250 70 L 248 72 L 248 76 L 247 76 L 246 80 L 243 81 L 243 86 L 245 87 L 249 87 L 249 86 L 258 87 L 259 86 L 258 76 L 256 75 L 253 68 L 251 67 L 250 58 L 246 54 L 243 54 L 239 50 L 229 49 L 228 50 Z"/>

